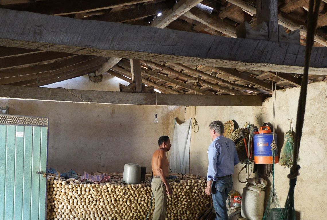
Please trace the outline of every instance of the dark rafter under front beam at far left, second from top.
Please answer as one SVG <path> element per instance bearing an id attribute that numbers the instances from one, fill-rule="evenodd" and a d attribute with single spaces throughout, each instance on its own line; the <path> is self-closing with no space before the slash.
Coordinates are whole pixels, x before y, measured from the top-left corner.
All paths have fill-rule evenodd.
<path id="1" fill-rule="evenodd" d="M 0 58 L 0 69 L 8 69 L 12 67 L 26 66 L 37 64 L 44 61 L 56 60 L 63 57 L 76 56 L 76 54 L 45 51 L 40 53 L 33 53 L 15 57 Z"/>

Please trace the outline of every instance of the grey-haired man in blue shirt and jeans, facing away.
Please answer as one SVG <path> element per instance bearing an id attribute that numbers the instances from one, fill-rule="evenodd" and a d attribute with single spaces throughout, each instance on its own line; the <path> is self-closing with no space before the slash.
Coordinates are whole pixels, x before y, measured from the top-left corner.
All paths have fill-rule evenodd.
<path id="1" fill-rule="evenodd" d="M 205 192 L 212 195 L 216 218 L 215 220 L 228 220 L 226 199 L 232 190 L 234 166 L 238 164 L 238 156 L 234 142 L 225 138 L 224 124 L 213 121 L 209 125 L 212 143 L 208 150 L 208 176 Z"/>

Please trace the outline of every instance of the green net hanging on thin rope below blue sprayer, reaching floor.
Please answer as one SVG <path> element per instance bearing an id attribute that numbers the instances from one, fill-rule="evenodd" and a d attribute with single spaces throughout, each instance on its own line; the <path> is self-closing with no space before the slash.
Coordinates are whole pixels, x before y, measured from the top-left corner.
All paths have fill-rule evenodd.
<path id="1" fill-rule="evenodd" d="M 272 150 L 273 158 L 275 158 L 276 149 Z M 272 164 L 272 185 L 267 208 L 262 220 L 280 220 L 283 216 L 283 210 L 278 200 L 278 196 L 275 189 L 275 164 Z"/>

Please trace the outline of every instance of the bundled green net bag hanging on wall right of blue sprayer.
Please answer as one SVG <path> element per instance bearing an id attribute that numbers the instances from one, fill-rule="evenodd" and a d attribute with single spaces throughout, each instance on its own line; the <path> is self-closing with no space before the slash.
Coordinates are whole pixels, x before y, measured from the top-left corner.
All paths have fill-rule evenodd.
<path id="1" fill-rule="evenodd" d="M 290 168 L 293 165 L 293 148 L 294 139 L 292 131 L 286 132 L 284 137 L 284 145 L 281 150 L 281 156 L 279 158 L 279 165 Z"/>

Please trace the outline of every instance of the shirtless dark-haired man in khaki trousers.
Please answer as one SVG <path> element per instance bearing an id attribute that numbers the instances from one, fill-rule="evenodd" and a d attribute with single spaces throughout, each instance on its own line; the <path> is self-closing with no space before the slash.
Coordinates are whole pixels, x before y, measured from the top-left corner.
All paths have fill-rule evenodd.
<path id="1" fill-rule="evenodd" d="M 168 136 L 161 136 L 158 140 L 159 149 L 152 155 L 151 165 L 153 179 L 151 183 L 154 195 L 155 208 L 153 220 L 164 220 L 167 211 L 167 194 L 172 194 L 168 183 L 168 159 L 166 152 L 170 150 L 171 144 Z"/>

